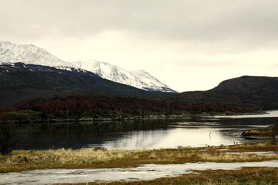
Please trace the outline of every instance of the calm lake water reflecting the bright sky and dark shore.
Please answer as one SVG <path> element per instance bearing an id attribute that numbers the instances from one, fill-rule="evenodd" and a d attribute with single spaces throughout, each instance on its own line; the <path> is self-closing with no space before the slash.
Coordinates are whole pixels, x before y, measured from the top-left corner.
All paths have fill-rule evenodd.
<path id="1" fill-rule="evenodd" d="M 272 111 L 267 115 L 19 125 L 22 139 L 17 149 L 131 150 L 233 145 L 254 142 L 241 136 L 245 129 L 271 125 L 277 120 L 278 111 Z"/>

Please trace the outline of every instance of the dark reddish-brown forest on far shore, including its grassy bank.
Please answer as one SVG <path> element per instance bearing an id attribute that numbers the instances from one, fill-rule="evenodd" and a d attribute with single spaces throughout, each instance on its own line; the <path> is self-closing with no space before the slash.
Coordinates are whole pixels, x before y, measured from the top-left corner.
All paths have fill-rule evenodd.
<path id="1" fill-rule="evenodd" d="M 185 99 L 184 99 L 185 100 Z M 28 110 L 22 112 L 23 110 Z M 192 113 L 250 113 L 259 107 L 228 103 L 187 103 L 178 97 L 118 97 L 100 95 L 62 96 L 22 101 L 0 109 L 2 120 L 128 118 L 130 116 L 182 115 Z M 20 112 L 21 111 L 21 112 Z M 9 112 L 9 113 L 7 113 Z M 24 114 L 32 115 L 24 117 Z M 22 117 L 23 116 L 23 117 Z"/>

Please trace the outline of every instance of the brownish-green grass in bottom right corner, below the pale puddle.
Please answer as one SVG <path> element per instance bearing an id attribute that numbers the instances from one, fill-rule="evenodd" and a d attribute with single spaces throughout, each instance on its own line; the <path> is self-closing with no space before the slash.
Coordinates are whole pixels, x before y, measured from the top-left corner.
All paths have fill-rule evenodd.
<path id="1" fill-rule="evenodd" d="M 77 183 L 98 185 L 144 185 L 144 184 L 278 184 L 277 168 L 243 168 L 241 170 L 196 171 L 199 174 L 183 174 L 178 177 L 164 177 L 148 181 Z"/>

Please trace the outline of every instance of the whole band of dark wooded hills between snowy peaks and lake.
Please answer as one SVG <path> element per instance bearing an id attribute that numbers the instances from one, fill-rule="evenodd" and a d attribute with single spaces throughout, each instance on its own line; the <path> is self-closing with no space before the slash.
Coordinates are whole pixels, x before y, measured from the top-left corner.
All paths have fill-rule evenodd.
<path id="1" fill-rule="evenodd" d="M 0 66 L 0 119 L 20 122 L 28 117 L 29 121 L 40 121 L 254 113 L 278 109 L 276 89 L 277 77 L 242 76 L 207 91 L 165 94 L 112 82 L 91 72 L 17 63 Z M 30 115 L 17 112 L 23 110 L 29 110 Z"/>

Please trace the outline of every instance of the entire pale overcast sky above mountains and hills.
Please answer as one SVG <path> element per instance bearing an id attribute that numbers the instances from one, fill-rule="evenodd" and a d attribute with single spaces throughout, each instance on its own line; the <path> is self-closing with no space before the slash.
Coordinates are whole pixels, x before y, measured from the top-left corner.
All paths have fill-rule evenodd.
<path id="1" fill-rule="evenodd" d="M 0 40 L 144 69 L 177 91 L 278 76 L 278 1 L 0 0 Z"/>

